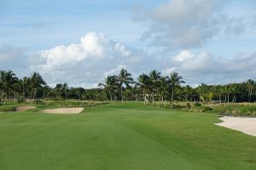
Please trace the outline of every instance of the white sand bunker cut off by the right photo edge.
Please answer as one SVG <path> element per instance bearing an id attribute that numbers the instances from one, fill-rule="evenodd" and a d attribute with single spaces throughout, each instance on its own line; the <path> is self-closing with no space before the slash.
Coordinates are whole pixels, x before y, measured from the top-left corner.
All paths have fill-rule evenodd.
<path id="1" fill-rule="evenodd" d="M 228 127 L 256 136 L 256 118 L 254 117 L 233 117 L 223 116 L 219 118 L 223 122 L 215 123 L 221 127 Z"/>

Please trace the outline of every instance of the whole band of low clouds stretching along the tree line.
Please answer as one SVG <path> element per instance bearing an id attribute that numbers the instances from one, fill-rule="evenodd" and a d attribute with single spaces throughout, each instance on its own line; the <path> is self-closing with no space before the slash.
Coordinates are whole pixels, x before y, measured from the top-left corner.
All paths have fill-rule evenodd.
<path id="1" fill-rule="evenodd" d="M 71 86 L 93 88 L 104 81 L 103 77 L 117 75 L 121 68 L 131 72 L 135 80 L 139 74 L 148 74 L 153 69 L 161 71 L 163 76 L 177 71 L 191 85 L 256 80 L 256 53 L 227 58 L 182 50 L 161 57 L 96 32 L 85 34 L 79 43 L 59 45 L 31 55 L 22 48 L 1 45 L 0 61 L 1 69 L 11 69 L 19 77 L 38 71 L 50 86 L 67 82 Z"/>

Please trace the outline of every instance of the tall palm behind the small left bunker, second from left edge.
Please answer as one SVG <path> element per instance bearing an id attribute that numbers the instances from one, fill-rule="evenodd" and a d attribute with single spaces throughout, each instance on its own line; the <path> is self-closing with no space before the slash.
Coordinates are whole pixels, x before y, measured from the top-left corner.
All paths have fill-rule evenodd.
<path id="1" fill-rule="evenodd" d="M 32 88 L 33 99 L 35 99 L 36 97 L 38 88 L 41 88 L 42 86 L 46 85 L 46 83 L 43 80 L 43 77 L 41 77 L 38 72 L 32 73 L 32 76 L 29 78 L 29 84 Z"/>

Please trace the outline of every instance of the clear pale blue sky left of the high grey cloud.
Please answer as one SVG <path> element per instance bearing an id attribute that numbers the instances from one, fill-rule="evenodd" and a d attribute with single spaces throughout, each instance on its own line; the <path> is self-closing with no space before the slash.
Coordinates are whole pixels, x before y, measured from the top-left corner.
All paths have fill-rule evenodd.
<path id="1" fill-rule="evenodd" d="M 1 0 L 1 42 L 35 52 L 58 44 L 78 42 L 86 32 L 98 31 L 132 45 L 139 43 L 138 37 L 143 32 L 143 26 L 132 21 L 131 11 L 127 9 L 136 4 L 137 1 L 131 0 L 75 0 L 65 3 Z"/>

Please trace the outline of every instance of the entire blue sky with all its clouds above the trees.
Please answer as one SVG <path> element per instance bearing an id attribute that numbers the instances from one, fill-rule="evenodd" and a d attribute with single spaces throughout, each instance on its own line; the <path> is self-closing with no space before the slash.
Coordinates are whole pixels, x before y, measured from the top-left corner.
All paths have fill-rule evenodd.
<path id="1" fill-rule="evenodd" d="M 154 68 L 163 74 L 179 71 L 190 84 L 241 82 L 256 78 L 249 74 L 250 68 L 244 68 L 247 62 L 256 60 L 255 7 L 253 0 L 0 0 L 0 66 L 18 71 L 20 76 L 40 71 L 50 84 L 77 81 L 75 85 L 84 87 L 95 86 L 122 66 L 134 75 Z M 94 61 L 98 59 L 93 55 L 98 53 L 91 51 L 97 50 L 95 47 L 85 47 L 79 54 L 68 49 L 72 44 L 77 49 L 84 43 L 96 44 L 102 48 L 102 55 L 111 57 Z M 119 43 L 124 48 L 117 51 Z M 61 52 L 57 48 L 60 45 L 64 45 Z M 66 58 L 55 57 L 59 52 Z M 124 56 L 120 57 L 120 53 Z M 126 55 L 131 57 L 129 62 Z M 205 57 L 201 59 L 202 56 Z M 71 59 L 73 67 L 67 67 L 67 72 L 57 69 L 65 68 L 65 64 L 53 61 L 56 58 L 68 62 Z M 135 58 L 137 63 L 130 63 Z M 205 71 L 208 68 L 203 64 L 195 65 L 196 59 L 215 63 L 216 69 L 223 72 L 214 68 Z M 97 74 L 70 73 L 78 67 L 90 72 L 85 68 L 101 62 Z M 109 67 L 104 66 L 106 62 L 111 62 Z M 243 64 L 241 75 L 236 77 L 230 76 L 234 73 L 231 68 L 218 68 L 226 63 L 237 65 L 236 62 Z M 49 77 L 49 71 L 55 74 Z M 65 74 L 70 74 L 69 78 Z"/>

